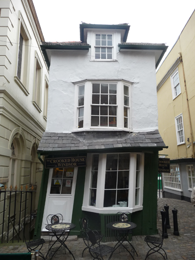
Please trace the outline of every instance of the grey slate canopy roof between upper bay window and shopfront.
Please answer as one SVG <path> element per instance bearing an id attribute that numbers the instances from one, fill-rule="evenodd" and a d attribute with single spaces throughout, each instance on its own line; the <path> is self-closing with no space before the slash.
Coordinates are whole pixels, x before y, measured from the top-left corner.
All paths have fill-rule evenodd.
<path id="1" fill-rule="evenodd" d="M 129 133 L 125 131 L 83 131 L 75 133 L 44 132 L 38 151 L 98 150 L 114 148 L 165 147 L 158 130 Z M 159 149 L 161 150 L 161 149 Z"/>

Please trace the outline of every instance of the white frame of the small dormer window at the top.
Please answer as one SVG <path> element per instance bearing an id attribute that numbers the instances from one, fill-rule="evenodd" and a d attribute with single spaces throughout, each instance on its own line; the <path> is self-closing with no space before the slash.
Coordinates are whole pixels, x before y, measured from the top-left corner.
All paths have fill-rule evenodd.
<path id="1" fill-rule="evenodd" d="M 112 46 L 96 46 L 96 34 L 112 34 L 113 36 L 113 45 Z M 116 32 L 114 30 L 106 30 L 106 31 L 93 31 L 92 32 L 92 39 L 91 39 L 91 60 L 90 61 L 115 61 L 117 60 L 117 42 L 116 42 Z M 112 59 L 95 59 L 95 47 L 105 47 L 109 48 L 111 47 L 113 52 L 113 57 Z"/>

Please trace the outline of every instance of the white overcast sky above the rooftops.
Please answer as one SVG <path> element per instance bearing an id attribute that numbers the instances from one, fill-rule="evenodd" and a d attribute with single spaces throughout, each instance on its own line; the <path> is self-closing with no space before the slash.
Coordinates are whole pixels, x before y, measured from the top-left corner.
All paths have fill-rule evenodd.
<path id="1" fill-rule="evenodd" d="M 166 43 L 171 50 L 195 0 L 33 0 L 45 41 L 79 41 L 79 24 L 130 25 L 127 42 Z"/>

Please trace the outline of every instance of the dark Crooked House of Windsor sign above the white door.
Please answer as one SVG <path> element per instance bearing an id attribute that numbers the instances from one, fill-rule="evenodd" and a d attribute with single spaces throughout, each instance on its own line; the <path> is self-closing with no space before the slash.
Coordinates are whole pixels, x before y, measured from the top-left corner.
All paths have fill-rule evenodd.
<path id="1" fill-rule="evenodd" d="M 87 166 L 86 156 L 45 159 L 45 168 L 64 168 L 79 166 Z"/>

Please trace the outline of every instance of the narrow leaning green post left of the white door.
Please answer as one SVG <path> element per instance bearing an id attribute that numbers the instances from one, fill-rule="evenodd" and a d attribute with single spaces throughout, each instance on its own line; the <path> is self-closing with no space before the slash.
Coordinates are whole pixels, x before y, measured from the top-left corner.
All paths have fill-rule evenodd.
<path id="1" fill-rule="evenodd" d="M 43 167 L 42 180 L 41 180 L 40 193 L 39 193 L 39 204 L 37 209 L 37 218 L 35 223 L 35 232 L 34 232 L 33 240 L 39 239 L 41 235 L 41 226 L 42 226 L 42 219 L 43 219 L 43 213 L 45 208 L 48 179 L 49 179 L 49 169 L 45 169 Z"/>

